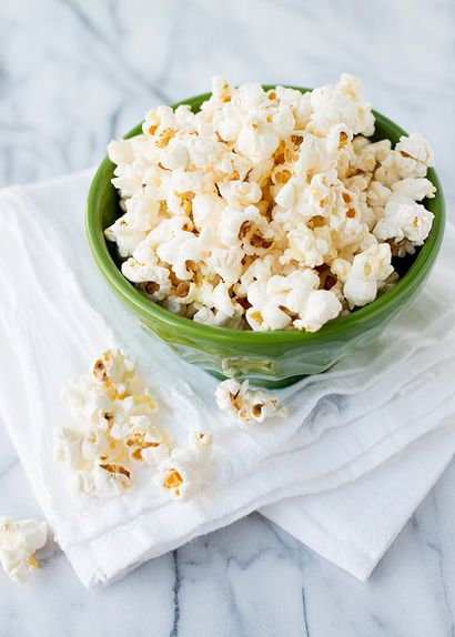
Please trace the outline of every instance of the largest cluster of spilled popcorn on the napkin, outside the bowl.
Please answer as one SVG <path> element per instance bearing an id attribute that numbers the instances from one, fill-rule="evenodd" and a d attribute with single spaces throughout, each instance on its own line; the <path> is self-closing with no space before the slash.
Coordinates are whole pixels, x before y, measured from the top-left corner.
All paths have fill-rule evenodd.
<path id="1" fill-rule="evenodd" d="M 169 497 L 185 498 L 201 486 L 202 456 L 211 436 L 190 432 L 188 444 L 171 449 L 171 436 L 156 425 L 156 403 L 135 363 L 121 350 L 108 350 L 89 374 L 63 391 L 74 416 L 53 431 L 54 459 L 70 469 L 74 494 L 112 497 L 132 486 L 132 467 L 156 467 L 153 482 Z"/>

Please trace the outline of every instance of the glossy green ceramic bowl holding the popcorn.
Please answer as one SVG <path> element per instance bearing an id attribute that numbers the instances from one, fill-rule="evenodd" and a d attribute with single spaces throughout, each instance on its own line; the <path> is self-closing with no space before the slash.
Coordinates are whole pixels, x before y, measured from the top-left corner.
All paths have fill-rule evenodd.
<path id="1" fill-rule="evenodd" d="M 264 87 L 273 88 L 272 85 Z M 305 92 L 310 89 L 299 87 Z M 210 93 L 183 100 L 198 111 Z M 393 144 L 406 134 L 394 122 L 375 112 L 374 140 L 390 139 Z M 125 138 L 142 132 L 141 124 Z M 173 314 L 150 301 L 119 270 L 115 245 L 105 241 L 104 230 L 120 216 L 119 196 L 111 183 L 114 164 L 105 158 L 92 181 L 87 205 L 87 234 L 98 267 L 129 314 L 165 341 L 183 360 L 220 377 L 250 378 L 263 386 L 285 386 L 297 378 L 324 372 L 343 356 L 375 340 L 422 290 L 439 251 L 444 233 L 444 198 L 434 170 L 428 179 L 437 189 L 426 208 L 435 214 L 425 244 L 415 255 L 400 261 L 398 283 L 370 305 L 326 323 L 318 332 L 297 330 L 246 332 L 212 327 Z M 152 355 L 153 343 L 150 343 Z"/>

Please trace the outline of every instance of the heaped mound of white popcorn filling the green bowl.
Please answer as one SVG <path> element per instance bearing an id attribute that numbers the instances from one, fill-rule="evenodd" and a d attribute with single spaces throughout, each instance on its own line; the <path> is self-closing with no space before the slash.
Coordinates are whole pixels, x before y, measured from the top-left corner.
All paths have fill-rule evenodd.
<path id="1" fill-rule="evenodd" d="M 432 228 L 419 133 L 372 143 L 371 104 L 343 74 L 307 93 L 212 81 L 198 113 L 158 107 L 109 144 L 124 214 L 105 231 L 122 272 L 199 323 L 317 331 L 397 280 L 392 257 Z"/>

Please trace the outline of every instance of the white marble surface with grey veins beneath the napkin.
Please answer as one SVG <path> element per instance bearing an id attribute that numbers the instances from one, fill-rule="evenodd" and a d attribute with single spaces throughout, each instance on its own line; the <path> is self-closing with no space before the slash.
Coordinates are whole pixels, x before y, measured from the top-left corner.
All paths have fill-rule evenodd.
<path id="1" fill-rule="evenodd" d="M 454 27 L 453 0 L 1 2 L 0 185 L 97 163 L 148 108 L 214 73 L 315 85 L 345 70 L 431 140 L 452 215 Z M 454 481 L 455 463 L 366 584 L 254 514 L 95 594 L 50 545 L 28 586 L 0 574 L 0 635 L 453 636 Z M 40 515 L 1 427 L 0 513 Z"/>

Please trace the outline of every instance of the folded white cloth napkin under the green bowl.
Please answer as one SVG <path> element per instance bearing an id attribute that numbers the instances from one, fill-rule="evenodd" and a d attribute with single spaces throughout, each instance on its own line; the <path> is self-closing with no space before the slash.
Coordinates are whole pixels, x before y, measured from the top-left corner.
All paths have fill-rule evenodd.
<path id="1" fill-rule="evenodd" d="M 0 415 L 82 583 L 104 585 L 261 507 L 367 577 L 455 451 L 454 231 L 431 284 L 383 337 L 281 390 L 289 417 L 243 432 L 218 411 L 216 381 L 145 334 L 97 272 L 83 230 L 91 176 L 0 193 Z M 161 499 L 150 467 L 119 498 L 68 495 L 51 453 L 52 427 L 69 418 L 60 390 L 112 344 L 139 360 L 176 443 L 213 433 L 213 477 L 188 502 Z"/>

